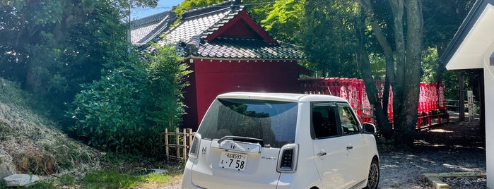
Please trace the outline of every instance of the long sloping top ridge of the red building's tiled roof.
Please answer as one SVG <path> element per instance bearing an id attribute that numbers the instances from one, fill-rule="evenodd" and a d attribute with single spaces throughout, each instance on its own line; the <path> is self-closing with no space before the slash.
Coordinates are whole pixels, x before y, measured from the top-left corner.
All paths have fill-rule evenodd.
<path id="1" fill-rule="evenodd" d="M 206 7 L 202 8 L 196 8 L 192 9 L 190 11 L 185 11 L 182 13 L 182 20 L 184 19 L 189 19 L 189 18 L 195 18 L 198 16 L 204 16 L 208 15 L 211 13 L 216 13 L 219 11 L 227 11 L 229 9 L 234 9 L 235 7 L 238 7 L 240 9 L 243 9 L 244 6 L 242 6 L 242 2 L 240 0 L 228 0 L 228 1 L 223 1 L 218 4 L 212 4 Z"/>

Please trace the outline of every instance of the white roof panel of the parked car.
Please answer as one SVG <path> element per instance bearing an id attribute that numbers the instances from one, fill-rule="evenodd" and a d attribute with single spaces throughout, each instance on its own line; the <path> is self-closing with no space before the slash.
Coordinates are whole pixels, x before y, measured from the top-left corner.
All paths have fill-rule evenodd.
<path id="1" fill-rule="evenodd" d="M 341 97 L 326 94 L 298 94 L 273 92 L 228 92 L 220 94 L 218 99 L 266 99 L 287 102 L 347 102 Z"/>

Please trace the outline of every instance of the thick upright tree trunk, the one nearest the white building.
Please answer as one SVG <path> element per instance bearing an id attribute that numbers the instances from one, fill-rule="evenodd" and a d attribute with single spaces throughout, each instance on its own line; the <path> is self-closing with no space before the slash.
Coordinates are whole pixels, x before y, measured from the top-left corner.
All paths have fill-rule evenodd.
<path id="1" fill-rule="evenodd" d="M 407 19 L 406 51 L 397 52 L 397 59 L 401 61 L 396 64 L 396 87 L 393 86 L 396 95 L 393 105 L 396 104 L 394 106 L 394 128 L 396 129 L 394 140 L 397 146 L 408 148 L 413 146 L 413 136 L 418 118 L 419 86 L 422 75 L 423 18 L 420 0 L 406 0 L 404 7 L 406 8 Z M 399 10 L 400 6 L 394 6 L 394 8 Z M 402 16 L 399 14 L 395 15 L 395 21 L 401 22 L 401 18 Z M 401 42 L 401 39 L 404 39 L 403 30 L 394 29 L 395 35 L 401 34 L 397 36 Z M 396 44 L 398 45 L 399 42 Z"/>

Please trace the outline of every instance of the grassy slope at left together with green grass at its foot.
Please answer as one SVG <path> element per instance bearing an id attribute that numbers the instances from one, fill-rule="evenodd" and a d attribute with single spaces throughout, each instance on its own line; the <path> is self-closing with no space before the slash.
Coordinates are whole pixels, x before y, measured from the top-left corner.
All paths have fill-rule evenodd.
<path id="1" fill-rule="evenodd" d="M 18 83 L 0 78 L 0 154 L 6 155 L 4 163 L 13 172 L 46 178 L 28 188 L 159 188 L 180 183 L 182 164 L 103 156 L 67 138 L 57 123 L 39 114 L 40 107 Z M 144 167 L 167 172 L 136 173 L 147 170 Z M 0 183 L 2 188 L 6 186 Z"/>

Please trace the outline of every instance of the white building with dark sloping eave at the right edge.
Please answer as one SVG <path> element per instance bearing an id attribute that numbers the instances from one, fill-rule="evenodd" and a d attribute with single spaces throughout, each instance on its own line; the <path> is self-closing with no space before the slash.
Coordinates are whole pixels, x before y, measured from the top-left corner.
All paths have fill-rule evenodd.
<path id="1" fill-rule="evenodd" d="M 483 68 L 487 187 L 494 188 L 494 0 L 477 0 L 441 57 L 448 70 Z"/>

